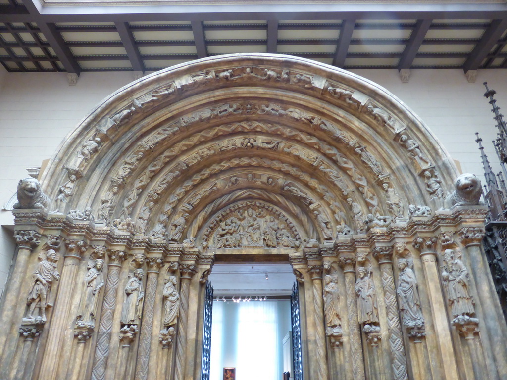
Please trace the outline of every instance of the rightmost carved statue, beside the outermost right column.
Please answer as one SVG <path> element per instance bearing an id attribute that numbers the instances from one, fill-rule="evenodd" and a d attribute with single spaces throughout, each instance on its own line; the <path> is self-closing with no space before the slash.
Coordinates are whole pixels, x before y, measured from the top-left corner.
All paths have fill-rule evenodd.
<path id="1" fill-rule="evenodd" d="M 468 270 L 460 259 L 460 252 L 446 249 L 444 262 L 442 279 L 452 316 L 473 317 L 475 315 L 474 298 L 468 293 Z"/>

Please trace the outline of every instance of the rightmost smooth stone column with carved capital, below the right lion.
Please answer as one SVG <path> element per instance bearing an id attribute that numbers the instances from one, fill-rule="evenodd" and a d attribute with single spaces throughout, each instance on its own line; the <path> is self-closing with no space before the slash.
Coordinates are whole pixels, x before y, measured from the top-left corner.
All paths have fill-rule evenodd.
<path id="1" fill-rule="evenodd" d="M 472 272 L 475 279 L 479 298 L 476 299 L 476 308 L 482 309 L 482 323 L 485 329 L 481 333 L 481 338 L 486 347 L 491 347 L 491 352 L 484 352 L 486 358 L 489 359 L 490 376 L 498 375 L 499 378 L 507 378 L 507 366 L 504 365 L 505 358 L 507 358 L 507 347 L 505 347 L 505 340 L 502 338 L 505 333 L 498 332 L 499 329 L 503 329 L 505 332 L 505 321 L 501 312 L 497 313 L 500 310 L 498 298 L 492 284 L 491 272 L 484 253 L 481 251 L 482 239 L 485 233 L 486 231 L 482 226 L 464 227 L 459 231 L 459 237 L 461 244 L 465 246 L 468 253 L 470 272 Z M 468 330 L 474 331 L 473 328 Z M 474 334 L 470 334 L 469 331 L 464 331 L 463 334 L 465 338 L 468 337 L 467 343 L 471 344 L 469 339 L 474 338 Z M 491 353 L 493 358 L 491 358 Z"/>

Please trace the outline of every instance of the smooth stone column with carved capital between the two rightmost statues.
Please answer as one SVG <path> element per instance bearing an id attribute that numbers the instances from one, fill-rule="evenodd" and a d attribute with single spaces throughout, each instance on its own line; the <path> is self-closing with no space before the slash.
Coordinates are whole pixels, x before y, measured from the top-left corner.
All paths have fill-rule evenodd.
<path id="1" fill-rule="evenodd" d="M 433 325 L 437 335 L 438 352 L 442 363 L 441 373 L 444 376 L 443 379 L 455 380 L 459 378 L 458 367 L 447 319 L 447 305 L 440 285 L 437 252 L 435 251 L 436 244 L 437 238 L 435 237 L 417 237 L 412 242 L 412 246 L 420 252 L 423 264 L 426 288 L 433 315 Z"/>

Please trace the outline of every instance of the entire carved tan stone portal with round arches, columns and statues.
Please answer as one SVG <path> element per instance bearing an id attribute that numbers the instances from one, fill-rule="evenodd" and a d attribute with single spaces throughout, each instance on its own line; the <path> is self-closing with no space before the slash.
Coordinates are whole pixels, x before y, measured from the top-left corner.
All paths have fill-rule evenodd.
<path id="1" fill-rule="evenodd" d="M 148 75 L 20 181 L 0 378 L 200 378 L 213 262 L 258 260 L 293 266 L 302 378 L 505 379 L 481 185 L 458 175 L 344 70 L 240 54 Z"/>

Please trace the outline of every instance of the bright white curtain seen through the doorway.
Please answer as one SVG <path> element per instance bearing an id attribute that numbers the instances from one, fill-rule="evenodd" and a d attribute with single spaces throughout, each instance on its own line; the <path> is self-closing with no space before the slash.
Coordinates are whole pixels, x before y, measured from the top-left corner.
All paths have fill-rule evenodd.
<path id="1" fill-rule="evenodd" d="M 287 301 L 213 302 L 210 380 L 235 367 L 237 380 L 279 380 Z M 287 305 L 284 305 L 287 303 Z M 280 311 L 282 310 L 282 312 Z M 282 313 L 282 316 L 279 314 Z"/>

